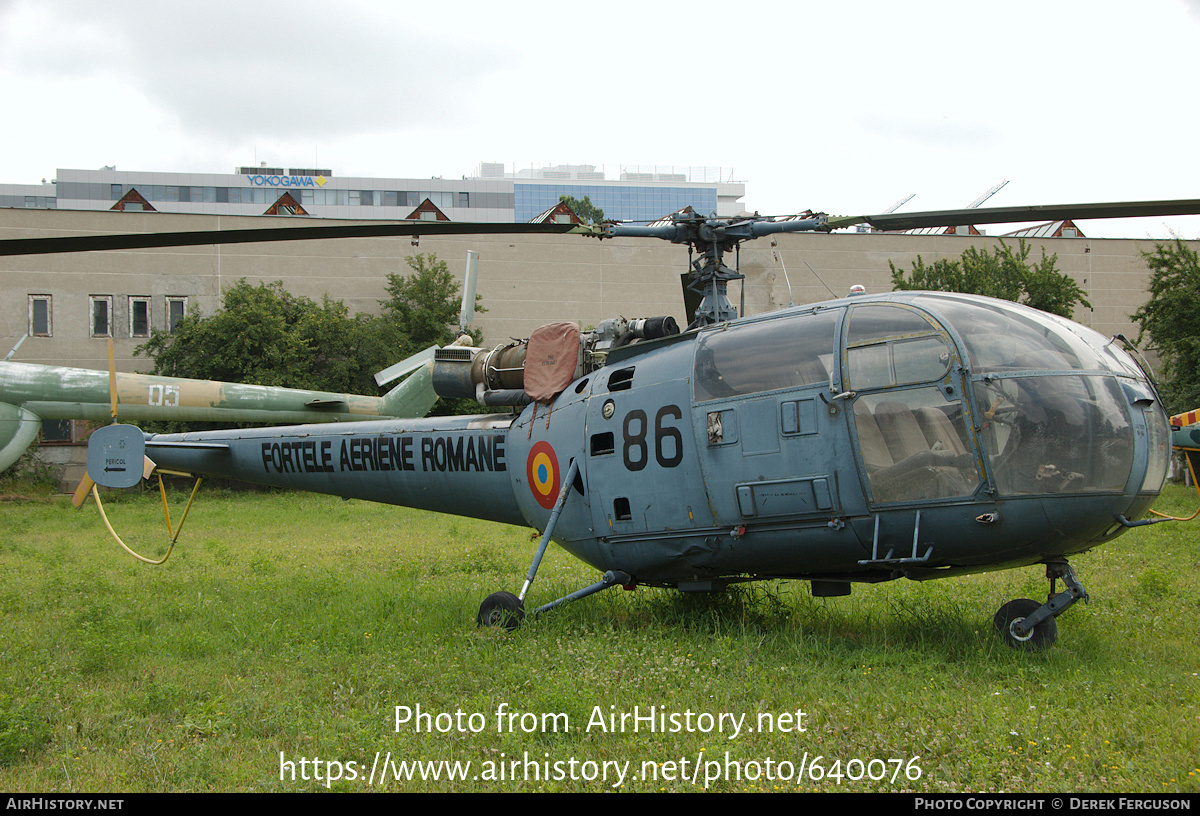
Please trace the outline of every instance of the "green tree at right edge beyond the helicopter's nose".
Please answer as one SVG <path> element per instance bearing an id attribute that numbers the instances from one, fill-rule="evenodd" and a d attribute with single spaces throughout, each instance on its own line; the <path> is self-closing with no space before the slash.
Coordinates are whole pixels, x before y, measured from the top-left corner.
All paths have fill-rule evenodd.
<path id="1" fill-rule="evenodd" d="M 1142 252 L 1150 268 L 1150 299 L 1129 319 L 1141 326 L 1138 344 L 1162 361 L 1162 392 L 1170 413 L 1200 408 L 1200 257 L 1178 238 Z"/>

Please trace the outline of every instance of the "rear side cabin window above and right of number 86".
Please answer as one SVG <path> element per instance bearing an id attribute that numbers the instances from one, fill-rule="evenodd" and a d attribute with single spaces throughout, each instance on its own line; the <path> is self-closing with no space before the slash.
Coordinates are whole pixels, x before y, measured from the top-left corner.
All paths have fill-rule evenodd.
<path id="1" fill-rule="evenodd" d="M 794 314 L 702 334 L 692 380 L 696 401 L 828 386 L 839 314 Z"/>

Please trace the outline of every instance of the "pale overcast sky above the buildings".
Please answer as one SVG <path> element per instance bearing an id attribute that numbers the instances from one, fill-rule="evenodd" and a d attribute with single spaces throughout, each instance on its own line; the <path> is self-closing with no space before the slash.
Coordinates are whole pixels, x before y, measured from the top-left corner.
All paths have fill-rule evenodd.
<path id="1" fill-rule="evenodd" d="M 1198 43 L 1200 0 L 0 0 L 0 181 L 491 161 L 720 167 L 763 214 L 1200 198 Z"/>

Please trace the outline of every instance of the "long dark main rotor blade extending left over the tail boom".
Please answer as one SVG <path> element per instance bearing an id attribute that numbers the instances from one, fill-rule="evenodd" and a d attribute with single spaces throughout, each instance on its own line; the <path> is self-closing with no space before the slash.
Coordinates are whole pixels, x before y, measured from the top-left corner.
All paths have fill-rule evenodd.
<path id="1" fill-rule="evenodd" d="M 268 241 L 312 241 L 326 238 L 389 238 L 394 235 L 552 235 L 577 227 L 554 223 L 479 223 L 464 221 L 386 221 L 378 223 L 325 224 L 319 227 L 265 227 L 259 229 L 208 229 L 188 233 L 125 233 L 109 235 L 62 235 L 59 238 L 14 238 L 0 240 L 0 256 L 47 254 L 52 252 L 94 252 L 103 250 L 149 250 L 172 246 L 215 244 L 263 244 Z"/>

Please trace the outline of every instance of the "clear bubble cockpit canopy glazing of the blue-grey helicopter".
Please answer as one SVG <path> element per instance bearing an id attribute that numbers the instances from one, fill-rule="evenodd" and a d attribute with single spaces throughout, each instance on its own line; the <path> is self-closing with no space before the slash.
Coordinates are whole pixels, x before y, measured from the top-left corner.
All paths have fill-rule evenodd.
<path id="1" fill-rule="evenodd" d="M 876 503 L 1160 490 L 1166 425 L 1145 373 L 1096 331 L 1027 306 L 893 293 L 726 324 L 696 341 L 698 403 L 814 389 L 851 409 Z M 818 391 L 820 392 L 820 391 Z M 1136 486 L 1135 486 L 1136 487 Z"/>

